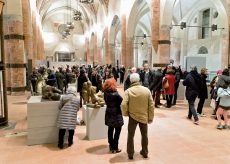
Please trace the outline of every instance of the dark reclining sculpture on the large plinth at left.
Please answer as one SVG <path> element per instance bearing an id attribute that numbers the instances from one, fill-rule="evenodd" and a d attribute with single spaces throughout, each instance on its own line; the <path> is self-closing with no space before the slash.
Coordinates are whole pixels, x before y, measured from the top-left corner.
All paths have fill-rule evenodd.
<path id="1" fill-rule="evenodd" d="M 43 99 L 57 101 L 57 100 L 60 100 L 61 93 L 62 93 L 61 90 L 53 86 L 45 85 L 42 87 L 42 98 Z"/>

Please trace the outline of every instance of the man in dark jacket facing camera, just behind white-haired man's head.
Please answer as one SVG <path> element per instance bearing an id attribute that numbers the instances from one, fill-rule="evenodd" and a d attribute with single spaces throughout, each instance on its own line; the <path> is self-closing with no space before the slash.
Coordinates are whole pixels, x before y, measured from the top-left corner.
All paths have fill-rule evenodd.
<path id="1" fill-rule="evenodd" d="M 144 69 L 140 72 L 141 84 L 142 84 L 142 86 L 150 89 L 152 86 L 153 73 L 149 69 L 148 63 L 144 63 L 143 68 Z"/>

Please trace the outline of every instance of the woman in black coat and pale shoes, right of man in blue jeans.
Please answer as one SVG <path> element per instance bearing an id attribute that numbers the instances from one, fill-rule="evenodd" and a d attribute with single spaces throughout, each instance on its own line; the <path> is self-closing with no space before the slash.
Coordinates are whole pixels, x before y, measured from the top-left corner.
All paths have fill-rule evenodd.
<path id="1" fill-rule="evenodd" d="M 207 75 L 208 75 L 207 69 L 202 68 L 201 73 L 200 73 L 202 86 L 201 86 L 201 91 L 198 95 L 198 98 L 200 99 L 200 101 L 197 106 L 197 114 L 200 115 L 201 117 L 205 117 L 205 114 L 202 113 L 202 110 L 203 110 L 205 99 L 208 98 L 208 88 L 206 84 Z"/>

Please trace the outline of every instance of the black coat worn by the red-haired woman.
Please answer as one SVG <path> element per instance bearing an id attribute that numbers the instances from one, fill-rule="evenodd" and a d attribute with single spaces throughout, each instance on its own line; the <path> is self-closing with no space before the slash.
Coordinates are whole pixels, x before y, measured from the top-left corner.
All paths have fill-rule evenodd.
<path id="1" fill-rule="evenodd" d="M 104 99 L 106 103 L 105 125 L 109 127 L 121 127 L 124 125 L 124 120 L 121 113 L 122 97 L 118 92 L 105 92 Z"/>

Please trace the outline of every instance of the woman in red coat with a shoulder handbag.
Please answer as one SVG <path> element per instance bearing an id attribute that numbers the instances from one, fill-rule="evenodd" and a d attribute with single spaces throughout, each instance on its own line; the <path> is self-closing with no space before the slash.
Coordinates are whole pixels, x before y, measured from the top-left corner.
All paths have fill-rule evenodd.
<path id="1" fill-rule="evenodd" d="M 168 68 L 165 78 L 163 79 L 163 87 L 164 87 L 164 94 L 166 95 L 166 101 L 167 101 L 167 108 L 170 108 L 172 106 L 172 99 L 173 95 L 175 94 L 175 76 L 174 76 L 174 70 L 172 68 Z"/>

